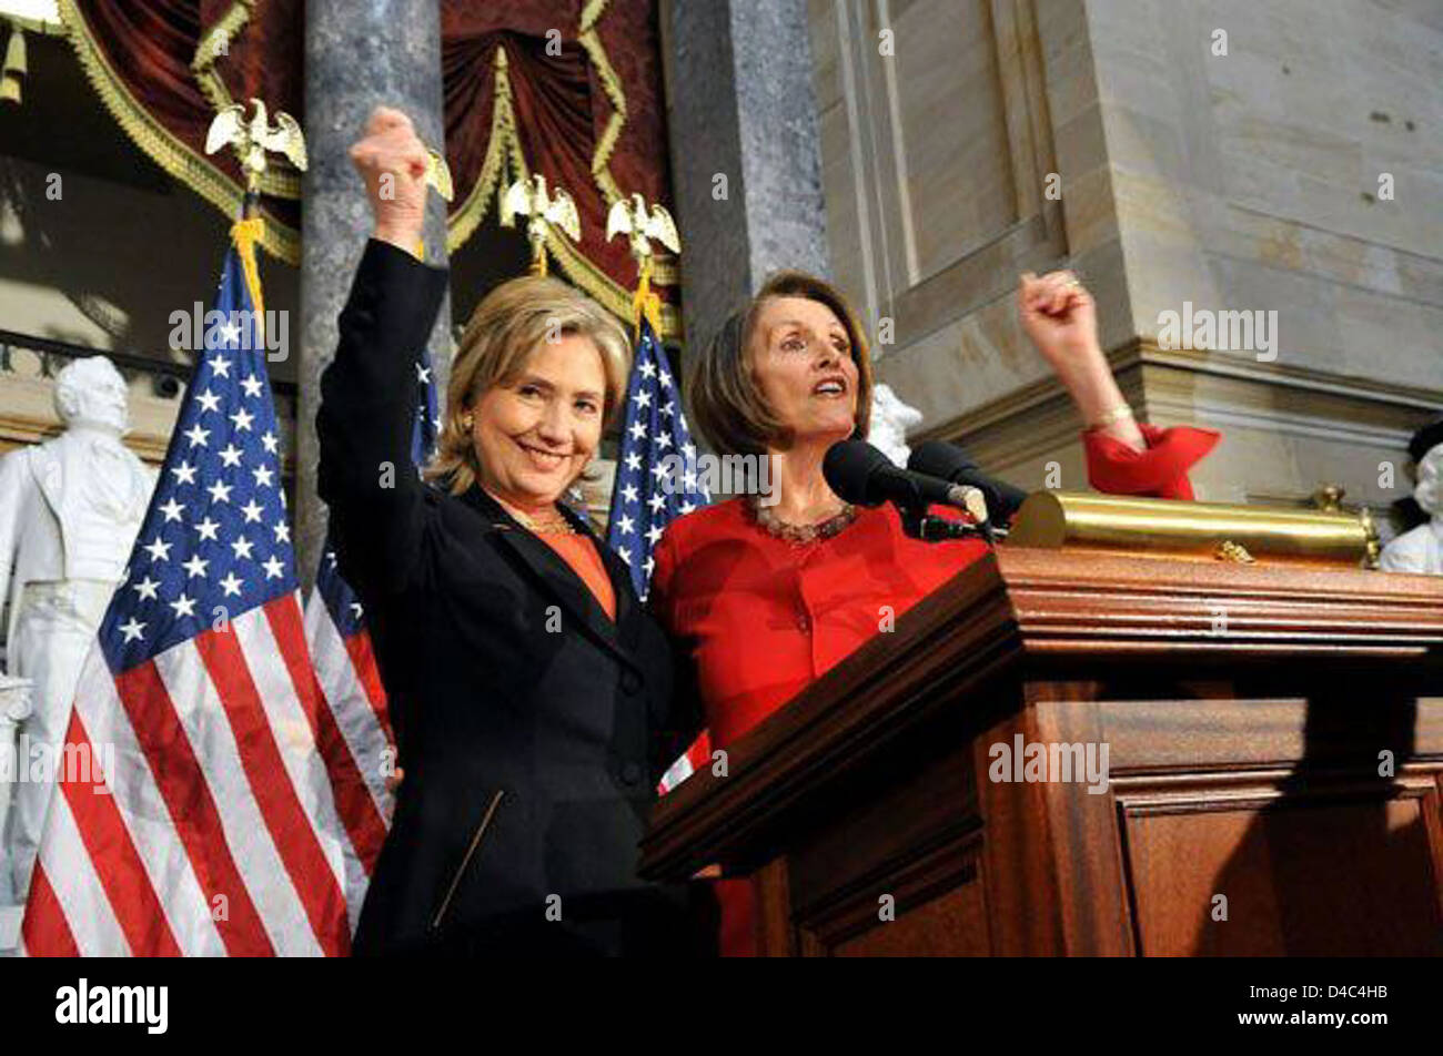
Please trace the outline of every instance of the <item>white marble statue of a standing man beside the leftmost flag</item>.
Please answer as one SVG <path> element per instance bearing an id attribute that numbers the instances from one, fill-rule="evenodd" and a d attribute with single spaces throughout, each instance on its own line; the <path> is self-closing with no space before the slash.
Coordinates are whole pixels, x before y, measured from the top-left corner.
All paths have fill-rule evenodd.
<path id="1" fill-rule="evenodd" d="M 65 431 L 0 457 L 0 597 L 10 603 L 6 668 L 33 682 L 20 733 L 30 754 L 61 744 L 75 682 L 124 577 L 154 473 L 120 439 L 126 382 L 104 356 L 76 359 L 55 384 Z M 19 766 L 27 760 L 17 759 Z M 17 782 L 0 818 L 10 894 L 23 900 L 52 786 Z"/>

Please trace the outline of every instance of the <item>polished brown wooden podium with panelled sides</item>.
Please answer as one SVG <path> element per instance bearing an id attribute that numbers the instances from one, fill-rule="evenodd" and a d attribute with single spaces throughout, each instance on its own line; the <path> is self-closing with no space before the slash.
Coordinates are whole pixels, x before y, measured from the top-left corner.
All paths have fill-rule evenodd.
<path id="1" fill-rule="evenodd" d="M 726 763 L 642 874 L 765 954 L 1443 954 L 1443 580 L 1004 547 Z"/>

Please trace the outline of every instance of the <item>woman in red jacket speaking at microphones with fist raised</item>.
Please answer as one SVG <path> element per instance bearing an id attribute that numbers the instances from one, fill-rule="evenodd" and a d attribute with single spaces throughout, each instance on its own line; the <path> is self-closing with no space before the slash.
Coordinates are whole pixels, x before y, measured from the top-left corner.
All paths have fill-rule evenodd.
<path id="1" fill-rule="evenodd" d="M 1023 276 L 1023 329 L 1089 428 L 1101 490 L 1192 498 L 1188 467 L 1218 436 L 1133 418 L 1097 340 L 1092 297 L 1069 271 Z M 652 607 L 694 664 L 713 749 L 724 749 L 931 590 L 986 553 L 978 540 L 919 542 L 890 505 L 833 493 L 823 456 L 864 437 L 866 338 L 820 278 L 773 276 L 709 346 L 691 404 L 717 454 L 771 462 L 771 505 L 720 502 L 674 521 L 654 553 Z M 749 881 L 722 881 L 722 951 L 755 952 Z"/>

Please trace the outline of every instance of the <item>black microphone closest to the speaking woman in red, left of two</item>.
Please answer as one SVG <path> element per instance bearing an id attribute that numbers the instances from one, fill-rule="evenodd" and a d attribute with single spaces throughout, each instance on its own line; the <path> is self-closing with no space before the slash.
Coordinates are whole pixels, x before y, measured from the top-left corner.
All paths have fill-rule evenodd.
<path id="1" fill-rule="evenodd" d="M 864 440 L 834 443 L 827 449 L 821 472 L 827 485 L 847 502 L 859 506 L 893 503 L 902 512 L 902 524 L 919 538 L 955 538 L 964 528 L 968 531 L 962 534 L 970 534 L 970 525 L 928 518 L 926 508 L 937 503 L 967 511 L 977 521 L 981 534 L 991 540 L 987 503 L 980 489 L 898 469 L 886 454 Z"/>

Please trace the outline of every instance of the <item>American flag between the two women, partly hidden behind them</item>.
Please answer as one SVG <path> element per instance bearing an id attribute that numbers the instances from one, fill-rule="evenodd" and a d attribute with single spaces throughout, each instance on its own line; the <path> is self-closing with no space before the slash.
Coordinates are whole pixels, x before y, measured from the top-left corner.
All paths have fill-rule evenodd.
<path id="1" fill-rule="evenodd" d="M 667 358 L 651 320 L 642 314 L 636 355 L 626 382 L 626 421 L 622 427 L 612 506 L 606 521 L 606 545 L 626 563 L 636 594 L 646 600 L 651 583 L 651 551 L 667 525 L 711 498 L 696 476 L 697 449 L 687 430 L 681 397 L 667 371 Z M 681 457 L 677 473 L 675 457 Z M 668 469 L 672 470 L 668 473 Z M 691 776 L 706 759 L 706 733 L 662 775 L 658 792 L 665 793 Z"/>

